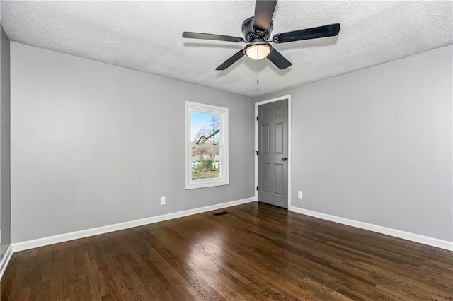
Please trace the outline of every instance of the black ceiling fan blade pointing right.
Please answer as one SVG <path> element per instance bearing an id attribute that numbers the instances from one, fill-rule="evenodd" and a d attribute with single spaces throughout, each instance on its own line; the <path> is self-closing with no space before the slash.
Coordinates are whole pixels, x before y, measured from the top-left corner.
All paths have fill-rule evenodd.
<path id="1" fill-rule="evenodd" d="M 286 43 L 302 40 L 317 39 L 319 37 L 333 37 L 340 32 L 340 24 L 330 24 L 320 27 L 277 33 L 272 40 L 274 43 Z"/>

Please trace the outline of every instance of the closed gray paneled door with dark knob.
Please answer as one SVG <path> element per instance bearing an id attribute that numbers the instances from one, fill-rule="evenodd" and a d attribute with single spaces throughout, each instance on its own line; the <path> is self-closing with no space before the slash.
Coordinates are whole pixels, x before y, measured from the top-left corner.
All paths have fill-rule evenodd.
<path id="1" fill-rule="evenodd" d="M 258 106 L 258 201 L 288 208 L 288 100 Z"/>

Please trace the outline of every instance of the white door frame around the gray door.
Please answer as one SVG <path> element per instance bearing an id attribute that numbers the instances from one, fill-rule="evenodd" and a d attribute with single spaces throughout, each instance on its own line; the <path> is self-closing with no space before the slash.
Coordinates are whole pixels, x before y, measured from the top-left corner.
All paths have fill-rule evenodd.
<path id="1" fill-rule="evenodd" d="M 291 165 L 292 165 L 292 155 L 291 155 L 291 94 L 280 96 L 278 98 L 272 98 L 270 100 L 263 100 L 260 102 L 255 102 L 255 152 L 258 151 L 258 106 L 265 105 L 269 102 L 276 102 L 279 100 L 288 100 L 288 210 L 290 211 L 291 206 Z M 255 201 L 258 201 L 258 155 L 255 155 Z"/>

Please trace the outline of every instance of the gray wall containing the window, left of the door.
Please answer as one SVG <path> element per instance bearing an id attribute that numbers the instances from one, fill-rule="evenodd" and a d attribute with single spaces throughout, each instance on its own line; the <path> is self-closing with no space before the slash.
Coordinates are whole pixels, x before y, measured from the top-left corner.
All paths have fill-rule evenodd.
<path id="1" fill-rule="evenodd" d="M 251 98 L 11 42 L 11 99 L 13 242 L 253 196 Z M 229 108 L 228 186 L 185 190 L 185 100 Z"/>

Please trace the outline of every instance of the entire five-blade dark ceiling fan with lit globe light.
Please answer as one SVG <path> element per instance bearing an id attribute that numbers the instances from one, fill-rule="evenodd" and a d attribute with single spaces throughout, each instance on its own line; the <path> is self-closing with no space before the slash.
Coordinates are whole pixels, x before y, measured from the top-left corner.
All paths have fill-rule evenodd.
<path id="1" fill-rule="evenodd" d="M 264 59 L 267 57 L 279 69 L 285 69 L 291 66 L 291 62 L 285 59 L 280 52 L 277 52 L 269 42 L 280 44 L 318 39 L 319 37 L 333 37 L 338 35 L 338 32 L 340 31 L 340 24 L 334 23 L 315 28 L 289 31 L 287 33 L 277 33 L 272 37 L 272 40 L 268 40 L 270 33 L 273 30 L 272 16 L 276 5 L 277 0 L 256 0 L 255 16 L 247 18 L 242 23 L 243 38 L 231 37 L 229 35 L 214 35 L 210 33 L 192 33 L 188 31 L 183 33 L 183 37 L 190 39 L 247 43 L 246 47 L 224 61 L 224 63 L 218 66 L 216 70 L 225 70 L 244 55 L 251 59 Z"/>

